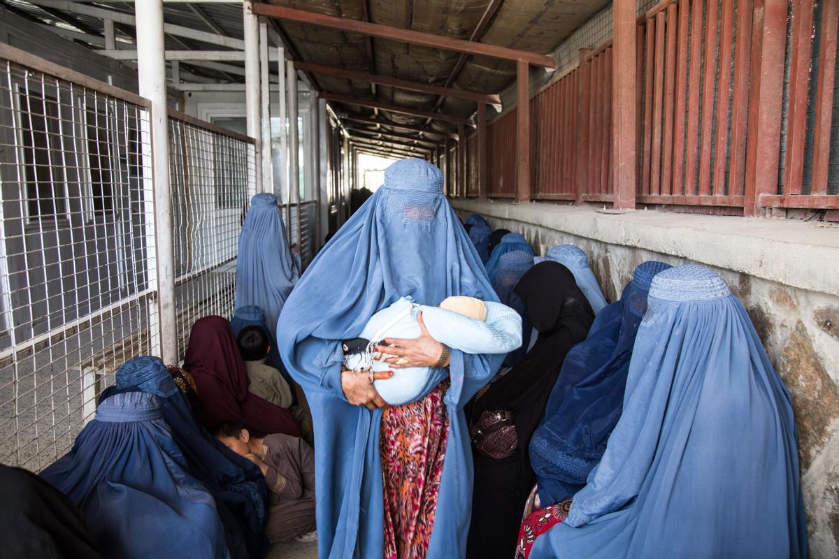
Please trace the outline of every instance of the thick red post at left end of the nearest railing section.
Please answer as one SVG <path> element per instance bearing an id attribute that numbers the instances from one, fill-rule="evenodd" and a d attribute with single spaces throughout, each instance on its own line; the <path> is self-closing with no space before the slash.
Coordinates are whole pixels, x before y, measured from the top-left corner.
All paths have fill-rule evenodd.
<path id="1" fill-rule="evenodd" d="M 635 0 L 612 3 L 612 206 L 635 209 Z"/>

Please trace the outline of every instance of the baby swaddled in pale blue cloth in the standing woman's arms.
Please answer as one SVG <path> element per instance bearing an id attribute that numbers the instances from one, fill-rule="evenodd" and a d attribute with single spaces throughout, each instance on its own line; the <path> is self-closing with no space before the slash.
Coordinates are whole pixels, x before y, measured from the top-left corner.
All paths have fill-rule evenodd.
<path id="1" fill-rule="evenodd" d="M 434 339 L 467 354 L 506 354 L 522 343 L 519 313 L 501 303 L 450 297 L 439 307 L 427 307 L 411 298 L 400 298 L 373 314 L 358 338 L 344 341 L 344 366 L 349 370 L 390 370 L 387 363 L 376 359 L 376 345 L 385 338 L 419 338 L 420 313 Z M 390 355 L 383 355 L 387 357 Z M 384 401 L 400 406 L 419 400 L 445 375 L 430 367 L 395 369 L 392 377 L 376 380 L 374 386 Z"/>

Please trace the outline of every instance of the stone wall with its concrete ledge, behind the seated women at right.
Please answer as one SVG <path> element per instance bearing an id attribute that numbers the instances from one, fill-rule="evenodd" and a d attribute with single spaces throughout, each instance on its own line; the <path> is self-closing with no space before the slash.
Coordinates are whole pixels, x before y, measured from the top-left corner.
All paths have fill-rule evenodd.
<path id="1" fill-rule="evenodd" d="M 784 220 L 453 200 L 534 250 L 571 243 L 614 301 L 639 263 L 697 261 L 743 302 L 795 406 L 810 556 L 839 556 L 839 227 Z M 720 504 L 725 506 L 724 500 Z"/>

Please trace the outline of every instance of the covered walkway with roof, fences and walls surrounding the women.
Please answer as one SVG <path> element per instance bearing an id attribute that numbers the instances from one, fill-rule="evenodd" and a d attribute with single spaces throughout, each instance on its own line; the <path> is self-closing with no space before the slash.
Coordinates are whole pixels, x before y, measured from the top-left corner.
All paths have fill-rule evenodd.
<path id="1" fill-rule="evenodd" d="M 119 365 L 232 315 L 253 194 L 305 268 L 363 156 L 424 158 L 610 301 L 649 258 L 719 272 L 836 556 L 837 28 L 836 0 L 0 0 L 0 462 L 45 468 Z"/>

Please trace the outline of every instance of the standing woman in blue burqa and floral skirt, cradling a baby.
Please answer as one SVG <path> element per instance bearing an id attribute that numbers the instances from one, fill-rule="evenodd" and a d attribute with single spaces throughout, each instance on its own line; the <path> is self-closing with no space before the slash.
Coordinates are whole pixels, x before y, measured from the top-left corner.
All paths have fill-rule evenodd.
<path id="1" fill-rule="evenodd" d="M 498 301 L 442 187 L 430 163 L 393 163 L 384 185 L 312 262 L 279 320 L 280 354 L 315 422 L 321 559 L 466 551 L 472 450 L 463 406 L 503 355 L 451 349 L 446 359 L 427 330 L 399 340 L 388 354 L 401 366 L 435 367 L 437 381 L 420 400 L 387 409 L 366 373 L 341 366 L 341 340 L 401 297 L 426 305 L 450 296 Z"/>

